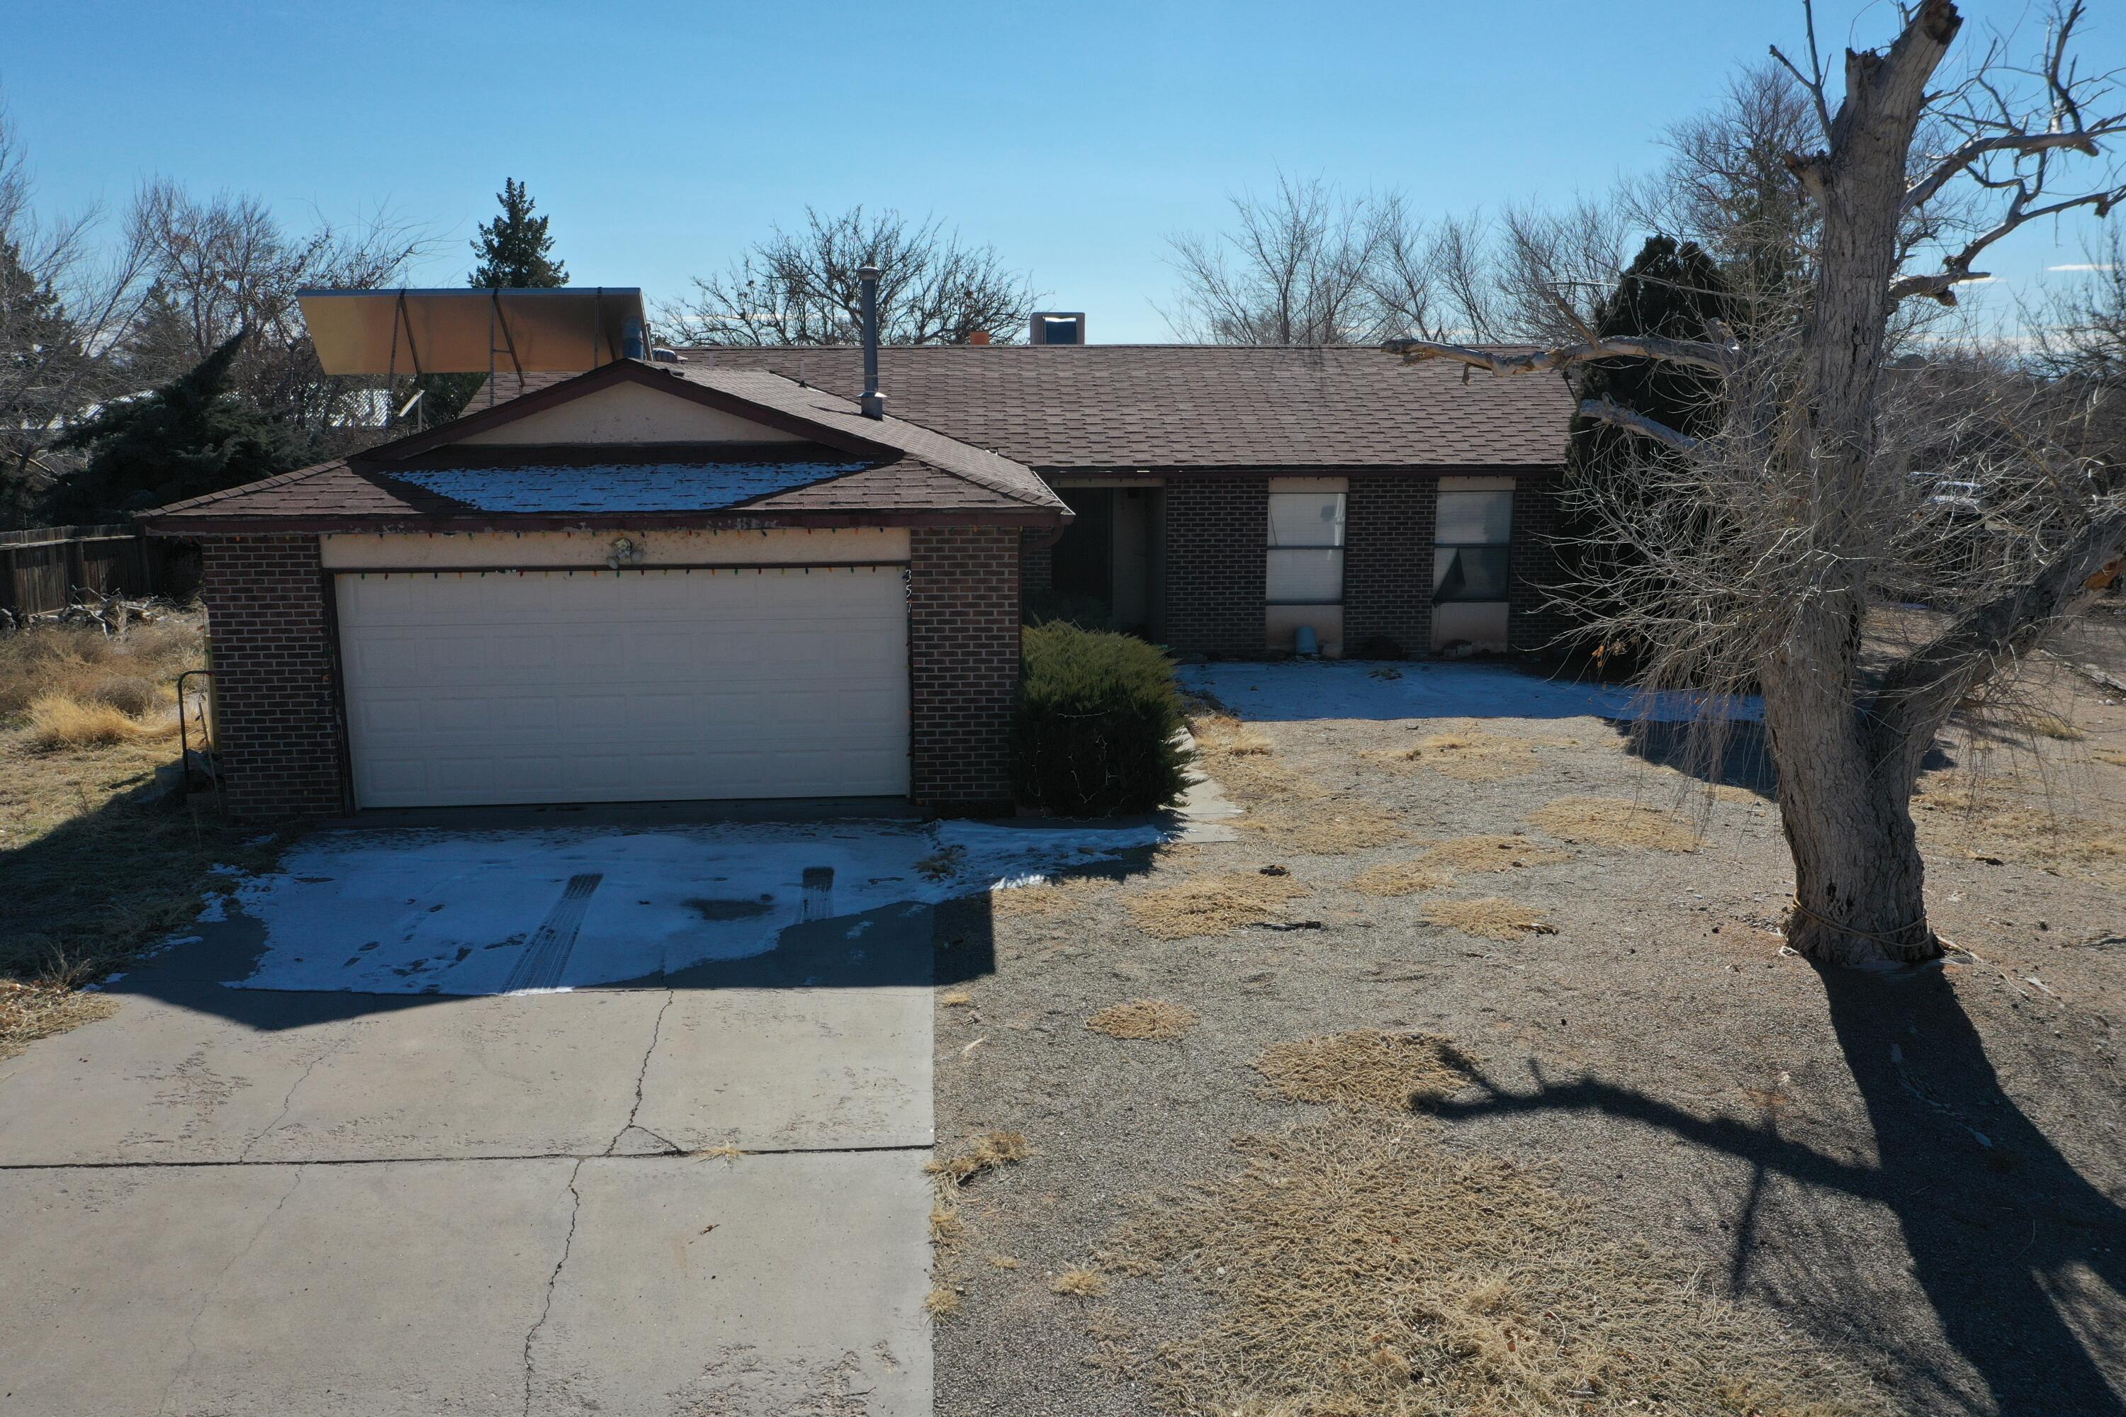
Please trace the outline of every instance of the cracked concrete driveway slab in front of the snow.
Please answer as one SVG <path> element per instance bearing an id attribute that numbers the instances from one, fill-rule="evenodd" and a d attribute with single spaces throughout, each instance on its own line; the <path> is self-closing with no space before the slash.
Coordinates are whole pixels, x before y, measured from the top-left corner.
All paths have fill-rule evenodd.
<path id="1" fill-rule="evenodd" d="M 931 918 L 846 941 L 425 998 L 210 926 L 0 1064 L 0 1413 L 929 1413 Z"/>

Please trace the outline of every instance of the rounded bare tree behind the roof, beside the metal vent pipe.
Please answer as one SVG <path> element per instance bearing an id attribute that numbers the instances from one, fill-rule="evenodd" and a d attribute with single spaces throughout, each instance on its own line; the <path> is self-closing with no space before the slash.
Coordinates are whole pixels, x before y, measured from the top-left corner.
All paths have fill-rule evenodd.
<path id="1" fill-rule="evenodd" d="M 682 344 L 853 344 L 861 338 L 861 266 L 876 266 L 878 338 L 887 344 L 967 344 L 976 334 L 1023 340 L 1035 293 L 995 246 L 972 246 L 938 217 L 910 221 L 861 206 L 840 217 L 806 208 L 799 232 L 776 227 L 729 272 L 695 278 L 659 308 Z"/>

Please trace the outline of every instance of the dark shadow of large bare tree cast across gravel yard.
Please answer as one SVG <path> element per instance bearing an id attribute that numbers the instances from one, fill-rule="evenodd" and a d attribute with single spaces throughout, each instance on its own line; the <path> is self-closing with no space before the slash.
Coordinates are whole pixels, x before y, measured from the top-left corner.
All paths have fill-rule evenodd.
<path id="1" fill-rule="evenodd" d="M 2126 1413 L 2126 1209 L 2007 1096 L 1939 969 L 1820 975 L 1873 1130 L 1873 1164 L 1782 1137 L 1775 1115 L 1762 1124 L 1703 1117 L 1594 1077 L 1537 1075 L 1533 1090 L 1480 1077 L 1484 1096 L 1437 1105 L 1435 1113 L 1601 1113 L 1737 1158 L 1752 1181 L 1733 1217 L 1733 1292 L 1758 1290 L 1750 1273 L 1767 1243 L 1758 1207 L 1769 1181 L 1788 1181 L 1813 1196 L 1820 1222 L 1813 1236 L 1796 1236 L 1799 1226 L 1779 1236 L 1809 1247 L 1771 1296 L 1792 1321 L 1875 1347 L 1871 1366 L 1894 1370 L 1907 1392 L 1933 1389 L 1935 1411 Z M 2115 1107 L 2117 1098 L 2096 1086 L 2092 1105 Z M 1850 1239 L 1843 1230 L 1871 1207 L 1894 1217 L 1911 1281 L 1941 1338 L 1984 1383 L 1984 1400 L 1928 1362 L 1928 1345 L 1886 1302 L 1882 1275 L 1862 1273 L 1858 1247 L 1841 1245 Z"/>

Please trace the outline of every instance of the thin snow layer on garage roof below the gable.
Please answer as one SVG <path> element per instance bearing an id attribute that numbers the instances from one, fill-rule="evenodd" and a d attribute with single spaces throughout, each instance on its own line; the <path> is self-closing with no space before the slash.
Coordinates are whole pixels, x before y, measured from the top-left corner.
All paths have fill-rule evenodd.
<path id="1" fill-rule="evenodd" d="M 461 501 L 476 512 L 712 512 L 867 463 L 589 463 L 532 467 L 391 470 L 393 482 Z"/>

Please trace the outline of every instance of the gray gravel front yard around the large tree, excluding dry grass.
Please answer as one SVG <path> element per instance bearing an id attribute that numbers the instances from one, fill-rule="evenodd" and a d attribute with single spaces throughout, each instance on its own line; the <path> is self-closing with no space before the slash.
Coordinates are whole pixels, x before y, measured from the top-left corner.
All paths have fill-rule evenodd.
<path id="1" fill-rule="evenodd" d="M 2126 705 L 2064 669 L 2039 690 L 2086 737 L 1996 750 L 1988 782 L 2069 824 L 2115 820 Z M 1201 1330 L 1208 1300 L 1186 1275 L 1114 1273 L 1091 1300 L 1050 1281 L 1099 1268 L 1148 1196 L 1231 1175 L 1235 1137 L 1318 1117 L 1265 1094 L 1252 1062 L 1350 1028 L 1475 1054 L 1480 1086 L 1441 1111 L 1446 1145 L 1539 1171 L 1588 1202 L 1588 1226 L 1682 1256 L 1707 1292 L 1873 1372 L 1894 1406 L 2126 1411 L 2126 858 L 2001 843 L 1975 814 L 1922 812 L 1935 922 L 1962 952 L 1830 977 L 1782 954 L 1792 873 L 1775 807 L 1735 786 L 1686 795 L 1603 720 L 1248 729 L 1327 792 L 1305 812 L 1388 809 L 1412 841 L 1299 854 L 1244 829 L 1146 852 L 1059 914 L 940 911 L 940 1154 L 989 1128 L 1033 1149 L 967 1183 L 965 1232 L 940 1247 L 938 1281 L 959 1298 L 938 1321 L 940 1413 L 1157 1411 L 1150 1355 Z M 1520 739 L 1526 771 L 1393 761 L 1469 731 Z M 1973 744 L 1945 754 L 1939 784 Z M 1690 852 L 1565 843 L 1531 826 L 1560 797 L 1680 807 L 1703 837 Z M 1350 886 L 1416 843 L 1514 831 L 1567 856 L 1401 897 Z M 1263 867 L 1310 888 L 1284 907 L 1307 928 L 1167 941 L 1131 922 L 1148 888 Z M 1533 907 L 1554 933 L 1497 941 L 1424 920 L 1465 897 Z M 1176 1041 L 1084 1026 L 1131 998 L 1199 1024 Z"/>

